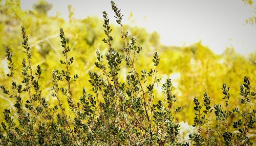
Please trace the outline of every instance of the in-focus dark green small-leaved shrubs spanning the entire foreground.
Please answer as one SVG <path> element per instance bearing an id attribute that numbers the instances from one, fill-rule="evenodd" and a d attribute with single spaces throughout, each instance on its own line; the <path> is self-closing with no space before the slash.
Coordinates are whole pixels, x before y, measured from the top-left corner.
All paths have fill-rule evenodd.
<path id="1" fill-rule="evenodd" d="M 65 34 L 60 28 L 63 58 L 60 64 L 63 70 L 52 72 L 52 98 L 57 105 L 48 102 L 40 89 L 41 68 L 32 68 L 30 47 L 25 28 L 22 27 L 24 52 L 27 58 L 22 62 L 22 82 L 15 81 L 12 53 L 6 48 L 12 80 L 11 90 L 1 86 L 4 94 L 16 100 L 16 110 L 5 109 L 5 122 L 2 122 L 0 144 L 2 145 L 252 145 L 251 130 L 255 123 L 255 93 L 247 77 L 240 86 L 241 106 L 229 109 L 229 87 L 222 86 L 225 105 L 211 106 L 210 97 L 205 93 L 203 103 L 194 98 L 194 127 L 197 131 L 189 135 L 186 143 L 179 142 L 179 111 L 175 105 L 176 96 L 172 94 L 171 79 L 162 84 L 163 100 L 153 102 L 154 88 L 159 84 L 157 66 L 160 58 L 157 52 L 153 56 L 155 69 L 136 70 L 137 55 L 142 50 L 136 45 L 136 38 L 130 40 L 122 27 L 120 10 L 111 2 L 116 14 L 116 22 L 121 27 L 124 40 L 125 57 L 113 47 L 109 18 L 103 12 L 104 32 L 102 41 L 108 45 L 105 55 L 97 50 L 95 66 L 100 73 L 89 71 L 92 85 L 91 94 L 82 89 L 76 102 L 72 93 L 72 82 L 78 75 L 72 75 L 70 66 L 74 58 L 69 56 L 71 49 L 67 45 Z M 119 81 L 119 71 L 124 65 L 130 69 L 125 82 Z M 62 105 L 66 97 L 72 114 Z M 229 125 L 233 123 L 233 125 Z"/>

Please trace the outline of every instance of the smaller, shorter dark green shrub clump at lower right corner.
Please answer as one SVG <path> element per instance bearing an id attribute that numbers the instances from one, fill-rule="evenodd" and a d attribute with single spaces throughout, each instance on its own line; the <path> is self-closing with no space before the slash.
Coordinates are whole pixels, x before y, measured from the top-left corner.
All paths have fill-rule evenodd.
<path id="1" fill-rule="evenodd" d="M 248 78 L 245 76 L 244 83 L 240 86 L 240 95 L 242 96 L 240 103 L 241 105 L 245 104 L 242 111 L 240 111 L 237 107 L 232 109 L 232 111 L 229 111 L 228 100 L 230 98 L 230 94 L 228 93 L 229 87 L 227 87 L 225 83 L 222 86 L 222 91 L 226 109 L 223 110 L 220 104 L 214 105 L 217 120 L 216 127 L 211 127 L 210 124 L 210 112 L 212 111 L 212 108 L 210 106 L 210 98 L 207 96 L 207 94 L 205 93 L 203 98 L 206 109 L 203 111 L 203 113 L 201 112 L 203 107 L 200 105 L 198 98 L 194 98 L 194 109 L 197 112 L 195 113 L 196 116 L 194 118 L 193 126 L 198 126 L 198 134 L 190 134 L 189 138 L 193 140 L 192 143 L 194 145 L 220 145 L 221 143 L 224 143 L 225 145 L 252 145 L 253 143 L 250 141 L 248 133 L 249 129 L 254 128 L 253 124 L 255 123 L 255 110 L 251 109 L 253 107 L 253 103 L 251 101 L 255 100 L 255 94 L 250 92 L 250 82 Z M 234 131 L 231 132 L 230 130 L 232 128 L 229 127 L 230 118 L 231 115 L 233 116 L 235 114 L 240 116 L 238 121 L 233 121 Z M 203 129 L 202 127 L 205 128 Z M 238 131 L 235 131 L 236 129 L 238 129 Z M 205 134 L 201 133 L 203 130 L 205 130 Z M 210 133 L 214 133 L 214 130 L 218 137 L 209 135 Z"/>

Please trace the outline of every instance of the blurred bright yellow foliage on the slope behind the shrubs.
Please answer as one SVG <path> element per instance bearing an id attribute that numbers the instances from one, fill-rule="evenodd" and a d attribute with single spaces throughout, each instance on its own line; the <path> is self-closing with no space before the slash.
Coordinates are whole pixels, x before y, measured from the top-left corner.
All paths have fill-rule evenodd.
<path id="1" fill-rule="evenodd" d="M 39 80 L 42 95 L 47 100 L 56 102 L 56 99 L 52 99 L 50 96 L 52 92 L 51 73 L 54 69 L 60 69 L 61 44 L 58 30 L 59 27 L 62 27 L 71 48 L 70 55 L 75 59 L 75 64 L 70 68 L 71 74 L 79 74 L 79 79 L 72 84 L 73 95 L 77 101 L 82 87 L 85 86 L 87 89 L 91 87 L 88 82 L 88 71 L 98 71 L 94 65 L 96 49 L 103 53 L 107 50 L 107 46 L 102 43 L 104 37 L 102 19 L 96 17 L 75 19 L 72 17 L 73 9 L 69 7 L 72 21 L 65 21 L 57 16 L 47 16 L 47 10 L 51 8 L 51 5 L 45 3 L 37 3 L 34 5 L 34 10 L 22 11 L 20 1 L 5 2 L 5 5 L 1 5 L 2 1 L 0 1 L 0 84 L 5 86 L 11 84 L 11 81 L 5 76 L 8 73 L 5 60 L 6 46 L 9 46 L 13 52 L 14 67 L 16 67 L 14 77 L 19 82 L 22 79 L 20 67 L 25 54 L 21 48 L 20 26 L 24 25 L 29 36 L 28 43 L 31 46 L 33 69 L 37 65 L 42 68 L 42 76 Z M 250 1 L 248 3 L 250 4 Z M 45 7 L 40 7 L 40 4 Z M 42 10 L 43 8 L 45 9 Z M 41 13 L 38 12 L 39 10 Z M 120 28 L 116 25 L 112 25 L 112 28 L 112 36 L 115 38 L 112 46 L 124 56 L 124 43 L 119 37 Z M 160 43 L 160 36 L 157 32 L 148 33 L 145 28 L 129 25 L 124 25 L 124 28 L 129 31 L 128 37 L 135 36 L 138 46 L 143 47 L 138 56 L 140 60 L 135 66 L 138 71 L 153 68 L 151 63 L 153 52 L 159 52 L 161 57 L 158 66 L 159 77 L 163 80 L 167 77 L 174 78 L 177 105 L 182 106 L 181 115 L 183 116 L 180 117 L 180 120 L 188 122 L 190 125 L 193 123 L 191 114 L 194 113 L 193 98 L 195 96 L 202 99 L 203 93 L 207 92 L 212 102 L 220 102 L 223 98 L 222 83 L 226 83 L 230 86 L 230 107 L 235 107 L 240 99 L 237 95 L 243 77 L 246 75 L 253 87 L 256 84 L 255 53 L 247 59 L 237 54 L 233 48 L 227 48 L 223 54 L 217 55 L 200 42 L 186 47 L 164 46 Z M 120 73 L 123 76 L 123 78 L 120 77 L 120 80 L 125 81 L 127 70 L 124 63 Z M 156 90 L 159 90 L 154 93 L 158 100 L 158 97 L 163 97 L 160 96 L 162 95 L 161 85 L 156 87 Z M 252 90 L 255 91 L 255 89 Z M 12 108 L 12 104 L 12 99 L 0 93 L 0 115 L 3 114 L 5 108 Z M 0 121 L 3 121 L 3 116 L 0 116 Z"/>

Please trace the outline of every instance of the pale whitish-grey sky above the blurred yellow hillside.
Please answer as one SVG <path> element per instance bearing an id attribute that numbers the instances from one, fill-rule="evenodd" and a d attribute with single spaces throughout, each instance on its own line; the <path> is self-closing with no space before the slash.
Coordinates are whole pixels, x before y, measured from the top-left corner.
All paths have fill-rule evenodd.
<path id="1" fill-rule="evenodd" d="M 53 4 L 50 16 L 59 11 L 68 20 L 70 4 L 76 18 L 102 18 L 104 10 L 110 14 L 110 21 L 115 22 L 110 0 L 47 1 Z M 24 10 L 32 9 L 35 2 L 21 0 L 21 5 Z M 255 4 L 251 7 L 242 0 L 116 0 L 115 3 L 124 15 L 124 24 L 131 24 L 128 17 L 133 12 L 136 20 L 133 25 L 145 27 L 148 32 L 157 31 L 162 44 L 184 46 L 202 41 L 218 54 L 231 46 L 241 54 L 256 51 L 256 25 L 245 22 L 256 15 Z"/>

